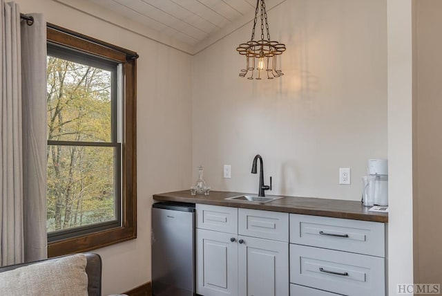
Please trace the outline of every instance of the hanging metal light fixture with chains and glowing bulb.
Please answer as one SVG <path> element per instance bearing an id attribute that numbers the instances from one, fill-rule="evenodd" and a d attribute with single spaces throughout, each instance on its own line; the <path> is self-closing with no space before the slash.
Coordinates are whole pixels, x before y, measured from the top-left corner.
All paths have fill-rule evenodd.
<path id="1" fill-rule="evenodd" d="M 261 15 L 261 39 L 255 40 L 255 28 L 258 22 L 258 12 Z M 264 27 L 267 33 L 267 39 L 264 39 Z M 241 69 L 240 77 L 246 77 L 250 72 L 249 80 L 261 80 L 261 72 L 267 73 L 267 79 L 280 77 L 284 75 L 281 70 L 276 69 L 276 57 L 285 52 L 285 44 L 270 40 L 269 24 L 267 23 L 267 11 L 265 10 L 264 0 L 256 1 L 255 20 L 253 21 L 253 30 L 251 39 L 246 43 L 240 44 L 236 50 L 240 55 L 246 56 L 246 68 Z M 255 72 L 257 72 L 255 74 Z M 255 77 L 253 75 L 255 74 Z"/>

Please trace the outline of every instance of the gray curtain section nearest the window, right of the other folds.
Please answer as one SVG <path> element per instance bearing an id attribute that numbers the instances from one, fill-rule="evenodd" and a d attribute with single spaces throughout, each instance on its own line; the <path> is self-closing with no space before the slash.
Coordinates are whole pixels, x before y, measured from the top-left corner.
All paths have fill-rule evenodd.
<path id="1" fill-rule="evenodd" d="M 46 21 L 21 21 L 23 115 L 23 234 L 25 261 L 47 257 L 46 234 Z"/>

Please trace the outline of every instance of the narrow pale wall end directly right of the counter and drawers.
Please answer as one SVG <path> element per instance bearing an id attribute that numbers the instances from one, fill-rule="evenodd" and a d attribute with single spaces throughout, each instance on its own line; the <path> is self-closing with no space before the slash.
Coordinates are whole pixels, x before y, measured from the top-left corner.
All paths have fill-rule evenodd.
<path id="1" fill-rule="evenodd" d="M 413 283 L 413 1 L 388 0 L 388 277 Z"/>

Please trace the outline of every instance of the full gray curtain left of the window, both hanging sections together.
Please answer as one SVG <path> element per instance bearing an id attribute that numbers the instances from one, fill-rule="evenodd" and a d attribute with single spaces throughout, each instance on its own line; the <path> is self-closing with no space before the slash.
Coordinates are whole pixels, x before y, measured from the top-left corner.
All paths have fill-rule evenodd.
<path id="1" fill-rule="evenodd" d="M 0 266 L 46 258 L 46 23 L 1 1 Z"/>

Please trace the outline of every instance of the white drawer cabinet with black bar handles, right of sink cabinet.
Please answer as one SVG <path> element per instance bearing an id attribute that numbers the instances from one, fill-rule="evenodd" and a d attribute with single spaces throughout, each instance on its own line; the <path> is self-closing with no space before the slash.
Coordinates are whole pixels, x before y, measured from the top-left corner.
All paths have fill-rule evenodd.
<path id="1" fill-rule="evenodd" d="M 384 223 L 290 214 L 290 243 L 291 296 L 385 295 Z"/>

